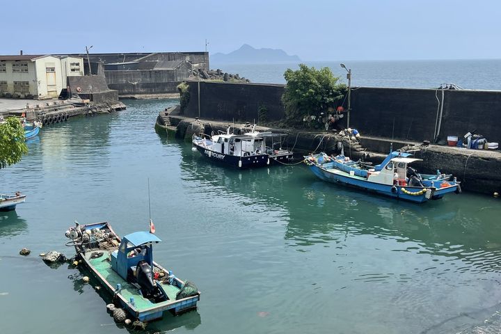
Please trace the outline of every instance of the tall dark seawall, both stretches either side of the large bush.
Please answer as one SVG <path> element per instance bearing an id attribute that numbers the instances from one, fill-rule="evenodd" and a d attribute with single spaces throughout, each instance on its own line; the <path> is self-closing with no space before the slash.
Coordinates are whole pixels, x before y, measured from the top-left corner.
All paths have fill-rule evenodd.
<path id="1" fill-rule="evenodd" d="M 189 82 L 189 87 L 191 98 L 184 114 L 197 117 L 198 86 Z M 258 122 L 257 111 L 263 105 L 268 120 L 280 120 L 285 115 L 283 90 L 283 85 L 201 82 L 200 117 Z M 368 136 L 433 141 L 440 109 L 438 141 L 476 129 L 488 141 L 501 142 L 501 91 L 353 88 L 350 127 Z M 345 127 L 346 122 L 345 117 L 340 125 Z"/>

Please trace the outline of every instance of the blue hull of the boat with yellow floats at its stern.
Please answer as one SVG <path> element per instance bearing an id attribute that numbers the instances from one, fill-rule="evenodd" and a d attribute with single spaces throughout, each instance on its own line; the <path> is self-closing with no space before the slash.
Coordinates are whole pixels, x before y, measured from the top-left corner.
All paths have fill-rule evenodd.
<path id="1" fill-rule="evenodd" d="M 456 184 L 439 189 L 433 188 L 431 189 L 431 194 L 427 196 L 426 192 L 420 193 L 423 189 L 422 187 L 399 186 L 397 184 L 379 184 L 363 180 L 363 177 L 349 175 L 348 173 L 344 173 L 340 170 L 326 170 L 315 164 L 310 164 L 308 167 L 315 175 L 317 175 L 317 177 L 319 177 L 320 180 L 335 184 L 342 184 L 344 186 L 351 186 L 363 191 L 378 193 L 383 196 L 406 200 L 409 202 L 422 203 L 427 202 L 430 199 L 438 200 L 439 198 L 443 198 L 446 193 L 454 192 L 457 189 Z"/>

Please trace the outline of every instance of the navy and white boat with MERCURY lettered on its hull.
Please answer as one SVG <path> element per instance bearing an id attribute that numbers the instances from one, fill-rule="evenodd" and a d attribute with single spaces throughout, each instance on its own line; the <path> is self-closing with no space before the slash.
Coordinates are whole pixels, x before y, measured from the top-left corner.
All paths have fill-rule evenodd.
<path id="1" fill-rule="evenodd" d="M 283 148 L 275 148 L 272 142 L 267 147 L 266 138 L 281 136 L 271 132 L 252 131 L 244 134 L 226 133 L 212 136 L 193 134 L 193 150 L 198 150 L 203 157 L 237 168 L 253 168 L 268 166 L 273 162 L 287 164 L 292 161 L 294 153 Z"/>

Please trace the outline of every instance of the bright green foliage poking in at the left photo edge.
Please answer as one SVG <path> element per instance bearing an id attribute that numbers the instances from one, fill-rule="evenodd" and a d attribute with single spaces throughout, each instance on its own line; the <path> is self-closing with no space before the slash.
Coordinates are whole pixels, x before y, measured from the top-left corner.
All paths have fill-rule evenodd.
<path id="1" fill-rule="evenodd" d="M 24 143 L 24 129 L 15 117 L 0 123 L 0 168 L 6 168 L 21 160 L 28 148 Z"/>

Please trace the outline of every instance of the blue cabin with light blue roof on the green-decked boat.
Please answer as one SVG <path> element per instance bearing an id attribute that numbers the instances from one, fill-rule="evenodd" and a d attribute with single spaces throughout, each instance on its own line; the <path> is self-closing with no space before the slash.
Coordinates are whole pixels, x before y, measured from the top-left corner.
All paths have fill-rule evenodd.
<path id="1" fill-rule="evenodd" d="M 118 250 L 111 253 L 111 269 L 124 280 L 130 273 L 136 273 L 136 266 L 144 261 L 153 268 L 152 244 L 161 240 L 150 232 L 134 232 L 122 237 Z"/>

